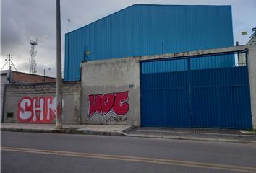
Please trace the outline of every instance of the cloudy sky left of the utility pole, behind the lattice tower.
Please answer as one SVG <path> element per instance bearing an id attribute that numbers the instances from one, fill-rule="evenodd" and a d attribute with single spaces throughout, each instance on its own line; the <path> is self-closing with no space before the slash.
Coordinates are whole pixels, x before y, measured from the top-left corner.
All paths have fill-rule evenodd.
<path id="1" fill-rule="evenodd" d="M 1 57 L 11 53 L 17 70 L 29 72 L 30 38 L 34 37 L 39 40 L 38 72 L 46 66 L 53 68 L 56 63 L 54 12 L 54 1 L 1 1 Z"/>

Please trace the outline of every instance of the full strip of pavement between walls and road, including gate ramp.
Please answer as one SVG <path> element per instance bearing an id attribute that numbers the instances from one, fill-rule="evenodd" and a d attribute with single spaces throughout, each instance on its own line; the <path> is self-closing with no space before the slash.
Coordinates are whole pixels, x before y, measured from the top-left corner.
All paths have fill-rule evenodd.
<path id="1" fill-rule="evenodd" d="M 54 124 L 1 123 L 1 131 L 80 133 L 86 135 L 256 143 L 256 133 L 253 131 L 212 128 L 154 128 L 134 127 L 132 125 L 63 125 L 63 129 L 58 130 Z"/>

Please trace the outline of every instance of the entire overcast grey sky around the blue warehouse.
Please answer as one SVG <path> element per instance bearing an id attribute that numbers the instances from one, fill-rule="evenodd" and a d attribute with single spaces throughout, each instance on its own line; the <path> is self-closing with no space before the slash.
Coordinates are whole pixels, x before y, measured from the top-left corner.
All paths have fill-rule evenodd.
<path id="1" fill-rule="evenodd" d="M 234 44 L 236 41 L 246 44 L 252 27 L 256 27 L 256 0 L 61 0 L 62 66 L 68 19 L 72 31 L 132 4 L 231 5 Z M 242 31 L 247 31 L 247 35 L 241 35 Z M 56 76 L 56 1 L 1 0 L 0 68 L 10 53 L 17 71 L 29 73 L 30 38 L 33 37 L 39 40 L 35 58 L 37 74 L 43 75 L 46 69 L 46 76 Z"/>

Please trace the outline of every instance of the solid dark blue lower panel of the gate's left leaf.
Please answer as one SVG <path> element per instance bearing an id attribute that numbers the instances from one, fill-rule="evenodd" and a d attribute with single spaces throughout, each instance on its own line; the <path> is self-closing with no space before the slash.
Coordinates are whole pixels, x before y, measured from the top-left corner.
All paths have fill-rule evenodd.
<path id="1" fill-rule="evenodd" d="M 142 74 L 141 84 L 142 126 L 191 125 L 186 71 Z"/>

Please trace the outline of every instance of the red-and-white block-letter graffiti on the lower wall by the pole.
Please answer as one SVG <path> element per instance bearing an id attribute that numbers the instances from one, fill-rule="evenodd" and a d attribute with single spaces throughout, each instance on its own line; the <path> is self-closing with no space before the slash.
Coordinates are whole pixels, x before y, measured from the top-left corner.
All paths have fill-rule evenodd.
<path id="1" fill-rule="evenodd" d="M 56 120 L 56 97 L 22 97 L 18 103 L 20 123 L 52 123 Z"/>

